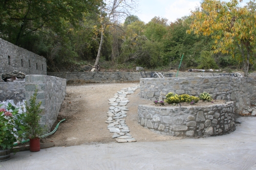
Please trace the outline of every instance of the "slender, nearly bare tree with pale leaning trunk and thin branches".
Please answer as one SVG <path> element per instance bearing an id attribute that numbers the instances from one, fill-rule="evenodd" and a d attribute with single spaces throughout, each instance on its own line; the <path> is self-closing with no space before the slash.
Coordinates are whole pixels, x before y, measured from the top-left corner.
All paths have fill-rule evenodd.
<path id="1" fill-rule="evenodd" d="M 103 44 L 104 32 L 107 26 L 114 25 L 118 18 L 125 19 L 137 8 L 136 0 L 110 0 L 100 4 L 100 43 L 94 66 L 98 65 Z"/>

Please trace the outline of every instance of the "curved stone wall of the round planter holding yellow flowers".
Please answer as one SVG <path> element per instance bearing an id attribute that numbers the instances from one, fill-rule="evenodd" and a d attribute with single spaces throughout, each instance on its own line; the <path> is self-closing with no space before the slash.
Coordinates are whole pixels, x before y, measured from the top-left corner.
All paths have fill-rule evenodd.
<path id="1" fill-rule="evenodd" d="M 139 105 L 138 123 L 172 136 L 222 135 L 236 129 L 233 102 L 208 106 L 158 107 Z"/>

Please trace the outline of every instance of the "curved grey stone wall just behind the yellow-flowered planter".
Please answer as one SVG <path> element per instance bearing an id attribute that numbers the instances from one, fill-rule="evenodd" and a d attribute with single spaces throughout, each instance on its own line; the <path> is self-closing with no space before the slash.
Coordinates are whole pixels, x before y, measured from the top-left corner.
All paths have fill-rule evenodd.
<path id="1" fill-rule="evenodd" d="M 236 113 L 250 106 L 247 78 L 239 77 L 190 77 L 140 79 L 140 97 L 163 101 L 168 92 L 198 96 L 208 92 L 217 100 L 234 101 Z"/>

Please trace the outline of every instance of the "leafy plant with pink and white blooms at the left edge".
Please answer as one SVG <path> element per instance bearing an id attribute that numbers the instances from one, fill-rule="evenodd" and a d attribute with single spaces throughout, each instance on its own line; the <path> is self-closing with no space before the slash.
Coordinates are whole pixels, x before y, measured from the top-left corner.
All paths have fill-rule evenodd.
<path id="1" fill-rule="evenodd" d="M 0 105 L 0 107 L 3 105 Z M 18 114 L 18 109 L 8 104 L 7 108 L 0 108 L 0 149 L 11 149 L 17 139 L 23 137 L 25 114 Z"/>

